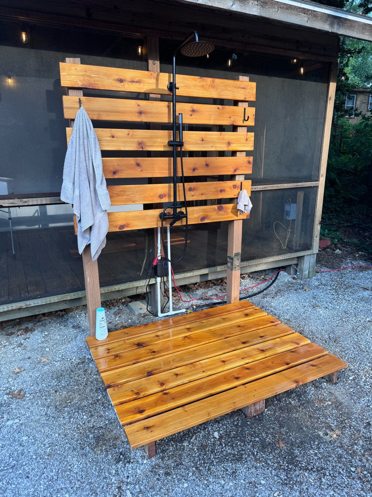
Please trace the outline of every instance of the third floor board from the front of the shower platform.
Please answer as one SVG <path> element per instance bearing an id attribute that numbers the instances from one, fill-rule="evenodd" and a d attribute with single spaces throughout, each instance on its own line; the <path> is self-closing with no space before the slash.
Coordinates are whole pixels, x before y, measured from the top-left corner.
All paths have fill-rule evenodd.
<path id="1" fill-rule="evenodd" d="M 178 385 L 188 384 L 221 371 L 257 361 L 264 357 L 279 354 L 309 344 L 310 340 L 300 333 L 292 333 L 281 338 L 274 338 L 258 345 L 252 345 L 209 359 L 192 362 L 164 373 L 124 383 L 107 390 L 113 406 L 140 399 L 157 392 L 163 392 Z"/>

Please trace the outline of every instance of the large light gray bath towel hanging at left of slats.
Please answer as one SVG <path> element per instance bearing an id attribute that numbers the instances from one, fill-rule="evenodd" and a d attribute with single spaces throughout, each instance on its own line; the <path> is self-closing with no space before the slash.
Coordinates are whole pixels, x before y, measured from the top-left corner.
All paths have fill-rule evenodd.
<path id="1" fill-rule="evenodd" d="M 111 206 L 97 135 L 83 107 L 76 114 L 63 166 L 61 200 L 73 204 L 79 253 L 90 243 L 92 260 L 106 245 Z"/>

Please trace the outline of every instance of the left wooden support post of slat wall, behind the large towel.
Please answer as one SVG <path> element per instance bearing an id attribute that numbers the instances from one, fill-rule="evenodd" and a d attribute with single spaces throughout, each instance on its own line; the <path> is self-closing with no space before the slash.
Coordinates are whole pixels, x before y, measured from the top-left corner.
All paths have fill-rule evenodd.
<path id="1" fill-rule="evenodd" d="M 80 64 L 79 58 L 66 58 L 67 64 Z M 67 95 L 83 96 L 83 90 L 79 88 L 68 88 Z M 73 119 L 69 120 L 70 127 L 73 126 Z M 90 245 L 87 245 L 82 253 L 84 281 L 86 292 L 86 306 L 88 311 L 89 334 L 94 336 L 96 333 L 96 310 L 101 307 L 101 292 L 98 276 L 98 261 L 92 260 Z"/>

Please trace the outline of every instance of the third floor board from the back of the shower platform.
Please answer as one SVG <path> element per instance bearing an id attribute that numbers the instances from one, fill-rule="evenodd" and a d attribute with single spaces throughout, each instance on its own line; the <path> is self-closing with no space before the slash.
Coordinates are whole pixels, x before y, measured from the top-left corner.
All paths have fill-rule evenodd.
<path id="1" fill-rule="evenodd" d="M 262 312 L 262 311 L 261 311 Z M 247 320 L 239 325 L 230 325 L 222 328 L 202 331 L 191 335 L 181 336 L 173 340 L 155 343 L 143 348 L 121 352 L 109 357 L 102 357 L 96 360 L 98 371 L 111 371 L 113 369 L 128 366 L 130 364 L 143 362 L 152 357 L 160 357 L 168 354 L 175 354 L 190 347 L 196 347 L 235 335 L 243 335 L 248 331 L 259 330 L 279 324 L 279 321 L 272 316 L 261 316 Z"/>

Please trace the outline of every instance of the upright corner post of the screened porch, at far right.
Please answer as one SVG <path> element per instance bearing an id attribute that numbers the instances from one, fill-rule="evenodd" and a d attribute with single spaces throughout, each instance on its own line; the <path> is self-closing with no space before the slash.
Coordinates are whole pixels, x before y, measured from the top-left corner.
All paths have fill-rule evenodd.
<path id="1" fill-rule="evenodd" d="M 330 70 L 329 70 L 328 91 L 327 91 L 327 100 L 326 100 L 325 115 L 324 115 L 323 140 L 320 152 L 319 186 L 316 195 L 314 226 L 312 232 L 312 249 L 314 253 L 316 253 L 319 249 L 321 211 L 323 207 L 324 183 L 325 183 L 325 172 L 327 169 L 329 141 L 331 138 L 331 126 L 333 119 L 334 98 L 336 93 L 337 70 L 338 70 L 338 65 L 335 62 L 332 62 L 332 64 L 330 64 Z"/>

